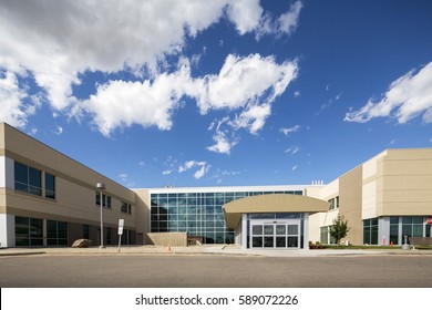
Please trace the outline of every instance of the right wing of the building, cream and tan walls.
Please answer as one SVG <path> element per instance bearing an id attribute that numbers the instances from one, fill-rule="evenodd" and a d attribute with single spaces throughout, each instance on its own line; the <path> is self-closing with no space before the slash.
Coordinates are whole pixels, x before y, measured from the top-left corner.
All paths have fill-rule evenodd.
<path id="1" fill-rule="evenodd" d="M 312 240 L 328 244 L 328 228 L 339 214 L 350 227 L 346 240 L 356 245 L 431 237 L 432 148 L 387 149 L 323 186 L 318 196 L 330 207 L 311 216 Z"/>

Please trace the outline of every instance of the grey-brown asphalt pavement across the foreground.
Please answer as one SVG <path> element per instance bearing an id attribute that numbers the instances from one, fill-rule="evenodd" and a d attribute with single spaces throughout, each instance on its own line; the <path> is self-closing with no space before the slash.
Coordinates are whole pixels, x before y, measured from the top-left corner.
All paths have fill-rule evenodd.
<path id="1" fill-rule="evenodd" d="M 2 288 L 432 288 L 431 255 L 0 257 Z"/>

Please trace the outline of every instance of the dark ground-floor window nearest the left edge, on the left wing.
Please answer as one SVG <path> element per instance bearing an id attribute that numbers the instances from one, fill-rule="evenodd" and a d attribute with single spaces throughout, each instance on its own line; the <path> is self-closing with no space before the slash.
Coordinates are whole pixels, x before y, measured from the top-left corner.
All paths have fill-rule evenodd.
<path id="1" fill-rule="evenodd" d="M 43 220 L 17 216 L 16 245 L 17 247 L 43 246 Z"/>

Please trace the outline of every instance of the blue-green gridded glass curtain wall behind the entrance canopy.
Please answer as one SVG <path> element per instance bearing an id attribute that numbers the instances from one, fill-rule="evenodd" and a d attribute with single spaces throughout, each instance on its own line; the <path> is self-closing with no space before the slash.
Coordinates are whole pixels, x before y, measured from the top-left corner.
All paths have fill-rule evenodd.
<path id="1" fill-rule="evenodd" d="M 205 244 L 234 244 L 222 206 L 244 197 L 266 194 L 302 195 L 296 192 L 229 192 L 151 194 L 152 232 L 187 231 Z"/>

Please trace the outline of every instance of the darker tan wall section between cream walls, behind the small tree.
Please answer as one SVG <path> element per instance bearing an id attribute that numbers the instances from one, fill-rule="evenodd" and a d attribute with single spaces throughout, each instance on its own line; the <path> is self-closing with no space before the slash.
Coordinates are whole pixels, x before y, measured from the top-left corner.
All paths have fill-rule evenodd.
<path id="1" fill-rule="evenodd" d="M 339 213 L 348 220 L 348 227 L 350 228 L 344 240 L 349 240 L 354 245 L 363 242 L 361 205 L 362 167 L 358 166 L 339 178 Z"/>

